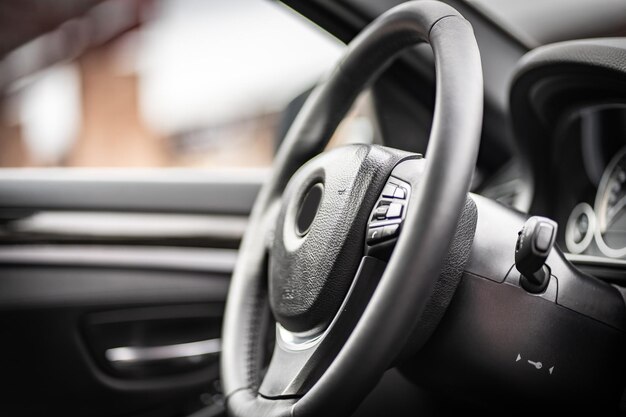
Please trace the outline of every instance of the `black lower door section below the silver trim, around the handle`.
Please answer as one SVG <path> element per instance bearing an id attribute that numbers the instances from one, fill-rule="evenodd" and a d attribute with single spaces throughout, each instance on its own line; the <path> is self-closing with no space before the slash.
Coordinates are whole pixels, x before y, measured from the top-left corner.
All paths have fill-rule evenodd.
<path id="1" fill-rule="evenodd" d="M 103 360 L 105 349 L 169 346 L 219 335 L 229 271 L 223 265 L 217 272 L 194 268 L 87 262 L 0 266 L 5 341 L 0 369 L 11 381 L 0 414 L 134 415 L 164 406 L 184 409 L 194 395 L 197 401 L 218 379 L 217 355 L 192 358 L 198 363 L 171 372 L 153 365 L 121 372 Z M 124 322 L 131 325 L 119 325 Z"/>

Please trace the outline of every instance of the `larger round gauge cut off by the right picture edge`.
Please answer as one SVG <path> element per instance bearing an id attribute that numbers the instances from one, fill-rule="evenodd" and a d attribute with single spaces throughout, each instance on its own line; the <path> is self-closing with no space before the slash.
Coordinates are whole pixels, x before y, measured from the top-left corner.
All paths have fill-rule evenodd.
<path id="1" fill-rule="evenodd" d="M 611 258 L 626 256 L 626 148 L 622 148 L 602 174 L 595 212 L 596 244 Z"/>

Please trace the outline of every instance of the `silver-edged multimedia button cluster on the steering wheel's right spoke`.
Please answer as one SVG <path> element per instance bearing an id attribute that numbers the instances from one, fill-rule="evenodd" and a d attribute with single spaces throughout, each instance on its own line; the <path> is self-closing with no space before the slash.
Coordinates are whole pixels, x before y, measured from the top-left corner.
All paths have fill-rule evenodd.
<path id="1" fill-rule="evenodd" d="M 411 186 L 390 177 L 372 210 L 367 226 L 367 245 L 374 246 L 398 237 L 409 201 Z"/>

